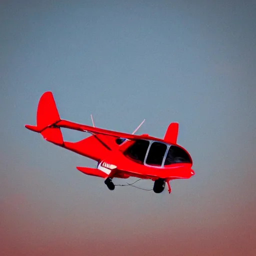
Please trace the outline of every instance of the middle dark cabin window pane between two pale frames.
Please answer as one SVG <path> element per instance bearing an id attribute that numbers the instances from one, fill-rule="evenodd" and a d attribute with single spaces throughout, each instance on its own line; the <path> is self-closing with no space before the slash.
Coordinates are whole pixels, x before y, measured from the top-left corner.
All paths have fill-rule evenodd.
<path id="1" fill-rule="evenodd" d="M 161 166 L 166 149 L 166 144 L 156 141 L 153 142 L 146 157 L 146 164 Z"/>

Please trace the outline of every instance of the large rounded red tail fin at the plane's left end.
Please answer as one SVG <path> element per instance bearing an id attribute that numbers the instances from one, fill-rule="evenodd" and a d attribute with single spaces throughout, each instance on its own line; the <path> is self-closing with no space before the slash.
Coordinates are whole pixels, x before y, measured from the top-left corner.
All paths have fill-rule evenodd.
<path id="1" fill-rule="evenodd" d="M 41 95 L 38 103 L 36 113 L 36 126 L 26 124 L 25 127 L 32 131 L 41 133 L 43 138 L 47 141 L 62 145 L 63 137 L 60 128 L 54 127 L 54 123 L 59 120 L 60 117 L 52 92 L 46 91 Z"/>

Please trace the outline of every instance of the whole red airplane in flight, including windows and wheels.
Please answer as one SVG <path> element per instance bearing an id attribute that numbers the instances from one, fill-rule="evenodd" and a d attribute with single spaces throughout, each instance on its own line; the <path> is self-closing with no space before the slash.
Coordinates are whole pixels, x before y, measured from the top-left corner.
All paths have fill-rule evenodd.
<path id="1" fill-rule="evenodd" d="M 135 135 L 141 124 L 132 134 L 97 128 L 93 119 L 92 124 L 88 126 L 60 119 L 53 95 L 46 91 L 38 103 L 36 126 L 26 124 L 25 127 L 41 133 L 53 144 L 97 161 L 97 168 L 76 168 L 85 174 L 104 178 L 110 190 L 115 187 L 112 178 L 133 176 L 154 181 L 155 193 L 162 192 L 166 182 L 170 193 L 170 180 L 194 175 L 191 156 L 176 143 L 178 123 L 169 124 L 163 139 L 148 134 Z M 60 128 L 91 135 L 77 142 L 68 142 L 63 140 Z"/>

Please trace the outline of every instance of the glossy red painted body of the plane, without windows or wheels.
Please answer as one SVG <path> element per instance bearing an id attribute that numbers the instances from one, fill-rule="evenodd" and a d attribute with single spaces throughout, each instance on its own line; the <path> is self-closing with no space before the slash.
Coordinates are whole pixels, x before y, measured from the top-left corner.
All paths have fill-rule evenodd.
<path id="1" fill-rule="evenodd" d="M 127 178 L 129 176 L 152 180 L 163 178 L 168 184 L 169 192 L 171 191 L 169 180 L 190 178 L 194 175 L 189 153 L 176 143 L 178 123 L 175 122 L 170 123 L 163 139 L 148 134 L 135 135 L 79 124 L 60 119 L 53 95 L 47 91 L 42 94 L 39 100 L 36 123 L 36 126 L 26 124 L 25 127 L 41 133 L 44 139 L 49 142 L 96 160 L 98 162 L 97 168 L 77 167 L 78 170 L 88 175 L 102 178 Z M 77 142 L 63 141 L 60 128 L 89 132 L 92 135 Z M 116 138 L 125 138 L 126 140 L 118 144 Z M 138 163 L 124 153 L 138 139 L 159 141 L 167 145 L 177 146 L 189 156 L 189 162 L 172 163 L 164 166 Z"/>

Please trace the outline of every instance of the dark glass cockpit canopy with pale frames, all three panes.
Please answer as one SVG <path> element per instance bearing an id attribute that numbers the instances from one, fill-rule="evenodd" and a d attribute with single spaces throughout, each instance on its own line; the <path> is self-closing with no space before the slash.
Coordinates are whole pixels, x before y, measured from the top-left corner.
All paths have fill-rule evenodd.
<path id="1" fill-rule="evenodd" d="M 150 166 L 167 167 L 172 163 L 191 163 L 188 153 L 177 145 L 160 141 L 139 139 L 125 151 L 132 160 Z"/>

